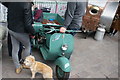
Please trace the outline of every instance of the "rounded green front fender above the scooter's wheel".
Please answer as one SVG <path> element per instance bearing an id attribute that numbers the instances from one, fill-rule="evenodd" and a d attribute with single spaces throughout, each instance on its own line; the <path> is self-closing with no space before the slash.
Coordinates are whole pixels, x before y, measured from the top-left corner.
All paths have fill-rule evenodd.
<path id="1" fill-rule="evenodd" d="M 56 61 L 55 61 L 56 66 L 59 66 L 63 71 L 65 72 L 70 72 L 71 71 L 71 66 L 70 66 L 70 62 L 69 60 L 62 56 L 59 57 Z"/>

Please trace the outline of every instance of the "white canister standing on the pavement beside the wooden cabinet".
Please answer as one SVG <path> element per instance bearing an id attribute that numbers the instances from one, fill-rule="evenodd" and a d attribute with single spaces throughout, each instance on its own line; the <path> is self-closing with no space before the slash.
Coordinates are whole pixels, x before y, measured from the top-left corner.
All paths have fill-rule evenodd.
<path id="1" fill-rule="evenodd" d="M 94 37 L 95 40 L 97 40 L 97 41 L 103 40 L 104 34 L 105 34 L 104 28 L 101 28 L 101 27 L 97 28 L 97 31 L 96 31 L 95 37 Z"/>

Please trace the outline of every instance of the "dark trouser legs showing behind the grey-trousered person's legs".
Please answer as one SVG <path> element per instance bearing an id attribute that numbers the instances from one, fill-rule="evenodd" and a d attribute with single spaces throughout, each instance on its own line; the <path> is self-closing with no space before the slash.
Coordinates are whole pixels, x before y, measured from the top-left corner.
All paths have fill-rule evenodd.
<path id="1" fill-rule="evenodd" d="M 10 37 L 9 33 L 8 33 L 8 40 L 7 40 L 7 42 L 8 42 L 8 53 L 9 53 L 9 56 L 12 57 L 12 43 L 11 43 L 11 37 Z M 20 49 L 19 49 L 19 52 L 18 52 L 19 60 L 21 59 L 22 49 L 23 49 L 23 46 L 20 43 Z"/>

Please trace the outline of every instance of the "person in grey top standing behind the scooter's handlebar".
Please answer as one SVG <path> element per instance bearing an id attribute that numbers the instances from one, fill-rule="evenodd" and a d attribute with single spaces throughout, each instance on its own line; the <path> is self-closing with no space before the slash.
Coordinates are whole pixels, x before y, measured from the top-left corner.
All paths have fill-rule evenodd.
<path id="1" fill-rule="evenodd" d="M 87 1 L 68 2 L 65 12 L 64 26 L 69 30 L 79 30 L 82 25 L 82 17 L 86 12 Z M 73 35 L 75 35 L 73 33 Z"/>

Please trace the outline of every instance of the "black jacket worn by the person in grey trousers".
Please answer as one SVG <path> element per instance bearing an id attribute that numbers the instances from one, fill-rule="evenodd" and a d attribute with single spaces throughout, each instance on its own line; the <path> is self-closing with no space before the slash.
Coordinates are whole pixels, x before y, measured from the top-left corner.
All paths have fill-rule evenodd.
<path id="1" fill-rule="evenodd" d="M 18 33 L 35 33 L 31 2 L 7 2 L 3 5 L 8 8 L 8 29 Z"/>

